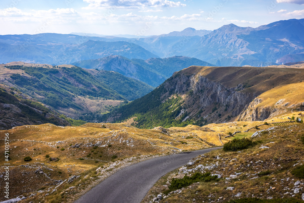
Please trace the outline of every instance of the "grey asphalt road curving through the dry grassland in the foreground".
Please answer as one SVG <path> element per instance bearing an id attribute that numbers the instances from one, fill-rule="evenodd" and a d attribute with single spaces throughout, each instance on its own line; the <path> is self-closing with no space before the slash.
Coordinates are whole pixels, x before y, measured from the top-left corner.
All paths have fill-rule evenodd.
<path id="1" fill-rule="evenodd" d="M 117 171 L 74 203 L 140 203 L 162 176 L 192 158 L 222 147 L 181 152 L 142 161 Z"/>

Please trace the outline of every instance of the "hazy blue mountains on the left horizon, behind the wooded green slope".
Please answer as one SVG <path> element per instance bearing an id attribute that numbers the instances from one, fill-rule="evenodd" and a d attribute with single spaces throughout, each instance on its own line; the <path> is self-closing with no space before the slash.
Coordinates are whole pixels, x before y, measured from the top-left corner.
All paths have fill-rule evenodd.
<path id="1" fill-rule="evenodd" d="M 125 41 L 106 42 L 100 37 L 43 33 L 0 36 L 0 62 L 28 61 L 52 65 L 97 59 L 109 55 L 148 59 L 158 57 Z"/>

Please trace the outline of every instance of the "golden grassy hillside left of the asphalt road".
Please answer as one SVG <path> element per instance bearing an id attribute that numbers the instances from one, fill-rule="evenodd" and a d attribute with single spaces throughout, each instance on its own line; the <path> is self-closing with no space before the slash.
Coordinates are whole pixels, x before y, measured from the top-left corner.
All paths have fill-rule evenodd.
<path id="1" fill-rule="evenodd" d="M 172 153 L 173 151 L 221 145 L 219 136 L 208 128 L 189 126 L 189 128 L 168 129 L 167 132 L 168 134 L 164 134 L 158 129 L 141 130 L 125 124 L 109 123 L 87 123 L 79 127 L 62 127 L 53 124 L 24 125 L 2 131 L 3 134 L 9 133 L 10 163 L 15 166 L 10 170 L 10 174 L 12 174 L 10 197 L 21 194 L 29 196 L 41 187 L 53 186 L 54 189 L 54 185 L 57 184 L 54 180 L 65 180 L 70 175 L 80 175 L 88 173 L 90 170 L 90 176 L 95 180 L 96 168 L 103 165 L 109 166 L 113 155 L 118 157 L 114 160 L 117 161 L 131 156 Z M 189 134 L 194 138 L 186 139 Z M 76 143 L 80 145 L 80 148 L 71 148 L 71 145 Z M 109 144 L 112 146 L 109 147 Z M 98 147 L 95 149 L 94 145 Z M 64 150 L 60 150 L 62 148 Z M 4 145 L 0 146 L 0 150 L 4 151 Z M 49 155 L 50 158 L 58 157 L 59 161 L 50 161 L 46 155 Z M 25 162 L 23 158 L 26 156 L 30 156 L 32 161 Z M 79 158 L 83 158 L 83 160 Z M 3 161 L 0 163 L 3 164 Z M 24 165 L 29 165 L 29 167 L 25 168 Z M 34 173 L 41 167 L 51 179 L 44 174 Z M 112 169 L 109 168 L 109 170 Z M 28 175 L 22 176 L 23 173 Z M 98 174 L 98 178 L 102 178 L 103 175 Z M 28 176 L 33 177 L 31 181 L 25 181 Z M 79 182 L 77 181 L 78 184 L 84 182 L 83 179 L 84 175 Z M 86 181 L 86 183 L 90 183 L 90 181 Z M 78 184 L 75 182 L 73 186 Z M 60 196 L 60 192 L 68 186 L 71 187 L 71 184 L 63 184 L 63 187 L 53 195 Z M 81 189 L 82 186 L 79 188 Z M 43 197 L 46 193 L 48 192 L 42 193 Z M 75 193 L 66 194 L 65 201 L 71 199 L 68 195 L 75 196 Z M 48 196 L 49 199 L 53 197 Z M 42 200 L 38 195 L 34 199 Z M 2 200 L 4 199 L 0 199 L 0 201 Z M 26 202 L 28 201 L 27 199 Z"/>

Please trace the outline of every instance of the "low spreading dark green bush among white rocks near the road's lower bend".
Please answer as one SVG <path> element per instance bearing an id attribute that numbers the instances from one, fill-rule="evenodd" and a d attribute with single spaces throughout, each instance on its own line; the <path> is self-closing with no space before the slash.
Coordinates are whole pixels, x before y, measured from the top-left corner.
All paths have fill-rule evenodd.
<path id="1" fill-rule="evenodd" d="M 197 183 L 197 182 L 210 182 L 210 181 L 218 181 L 219 178 L 216 176 L 211 176 L 210 172 L 207 173 L 199 173 L 196 172 L 194 173 L 191 177 L 189 176 L 184 176 L 183 178 L 173 178 L 171 180 L 171 185 L 169 186 L 169 189 L 166 190 L 164 193 L 168 194 L 171 191 L 181 189 L 183 187 L 188 187 L 192 183 Z"/>

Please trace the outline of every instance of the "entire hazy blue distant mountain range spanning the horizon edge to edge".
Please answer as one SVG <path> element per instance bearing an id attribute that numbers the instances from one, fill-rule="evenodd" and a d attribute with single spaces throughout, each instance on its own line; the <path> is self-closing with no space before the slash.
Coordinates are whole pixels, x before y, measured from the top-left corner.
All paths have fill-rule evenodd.
<path id="1" fill-rule="evenodd" d="M 303 25 L 304 19 L 289 19 L 257 28 L 229 24 L 213 31 L 186 28 L 181 32 L 135 38 L 80 36 L 83 33 L 2 35 L 0 62 L 57 65 L 110 55 L 143 60 L 182 55 L 217 66 L 279 65 L 304 61 Z"/>

